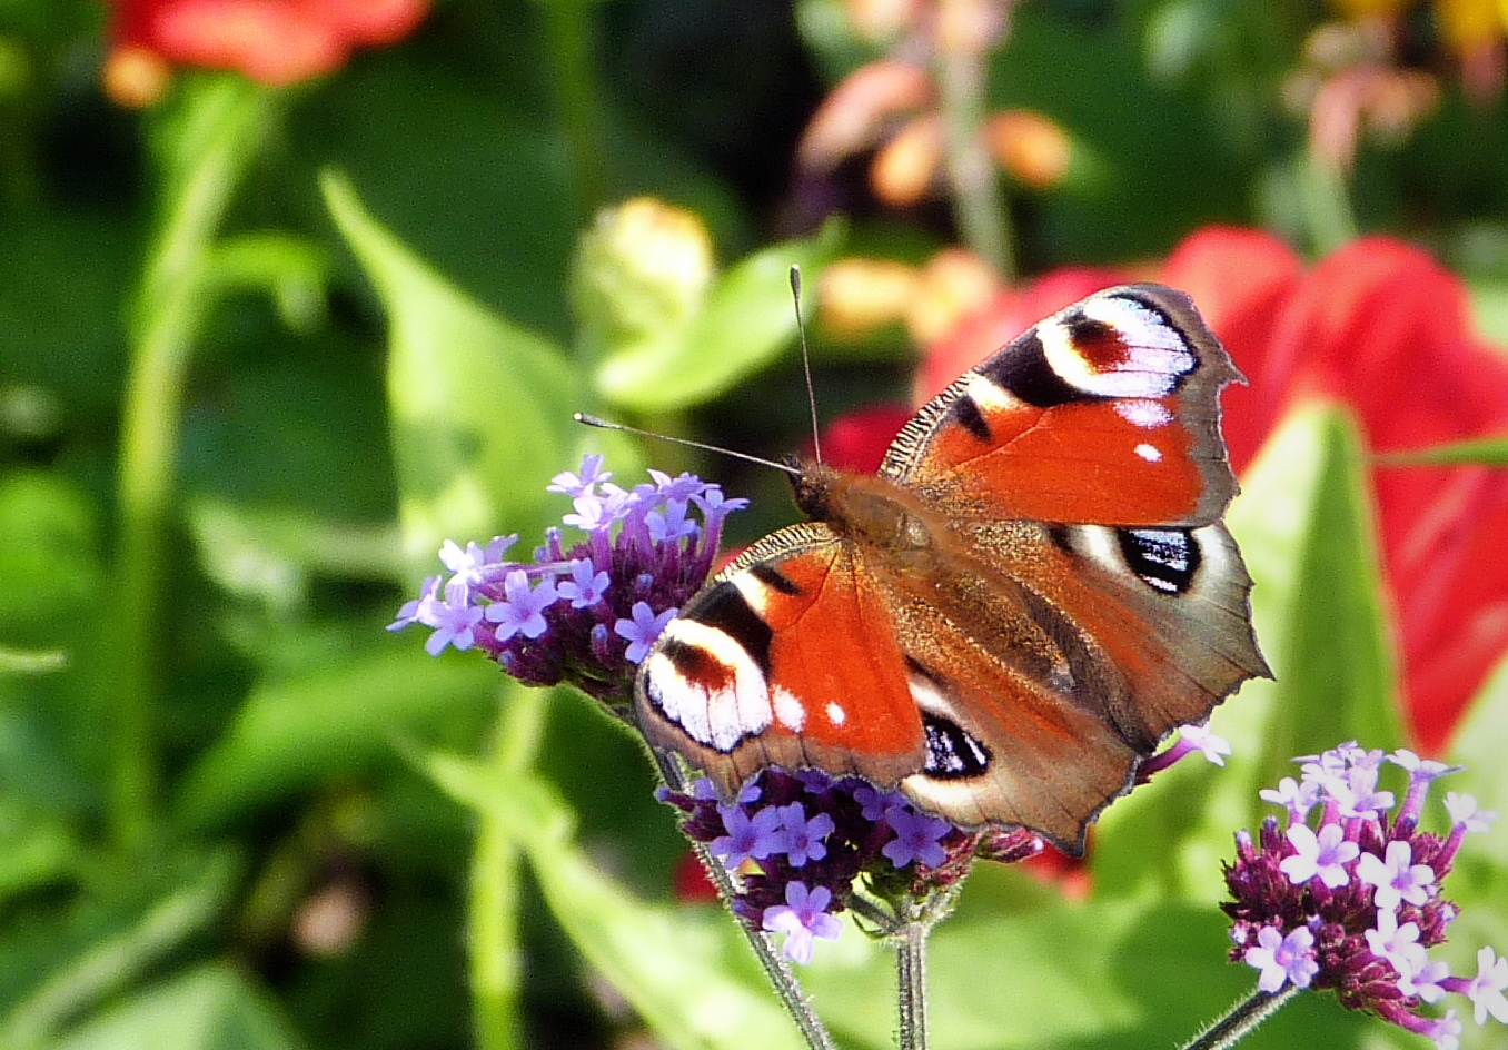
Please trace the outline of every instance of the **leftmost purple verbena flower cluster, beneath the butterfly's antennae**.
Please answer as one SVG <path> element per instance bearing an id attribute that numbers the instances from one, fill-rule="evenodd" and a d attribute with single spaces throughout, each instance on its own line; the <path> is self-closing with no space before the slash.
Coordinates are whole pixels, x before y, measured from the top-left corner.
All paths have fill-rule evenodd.
<path id="1" fill-rule="evenodd" d="M 549 484 L 570 498 L 561 522 L 584 539 L 567 546 L 550 528 L 528 563 L 507 558 L 517 536 L 464 549 L 446 540 L 449 575 L 427 579 L 388 629 L 421 623 L 434 631 L 425 643 L 433 656 L 477 647 L 525 685 L 569 682 L 626 714 L 635 665 L 706 581 L 724 519 L 748 501 L 659 471 L 623 489 L 602 463 L 587 456 L 579 472 Z"/>

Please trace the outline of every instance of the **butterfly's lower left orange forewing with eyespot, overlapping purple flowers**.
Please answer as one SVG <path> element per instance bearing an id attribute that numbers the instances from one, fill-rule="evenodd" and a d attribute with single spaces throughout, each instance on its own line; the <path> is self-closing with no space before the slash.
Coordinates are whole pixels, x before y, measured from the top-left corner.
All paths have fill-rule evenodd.
<path id="1" fill-rule="evenodd" d="M 768 765 L 891 784 L 921 768 L 921 717 L 894 622 L 855 554 L 807 523 L 718 573 L 639 671 L 650 742 L 725 792 Z"/>

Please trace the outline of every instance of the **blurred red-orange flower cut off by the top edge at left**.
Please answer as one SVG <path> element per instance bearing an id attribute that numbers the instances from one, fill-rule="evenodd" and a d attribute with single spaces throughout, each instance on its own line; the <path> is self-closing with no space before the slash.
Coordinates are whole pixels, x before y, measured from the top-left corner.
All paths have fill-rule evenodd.
<path id="1" fill-rule="evenodd" d="M 118 59 L 139 63 L 155 56 L 235 69 L 271 86 L 330 72 L 359 45 L 394 44 L 430 8 L 428 0 L 115 0 L 110 6 L 112 66 Z"/>

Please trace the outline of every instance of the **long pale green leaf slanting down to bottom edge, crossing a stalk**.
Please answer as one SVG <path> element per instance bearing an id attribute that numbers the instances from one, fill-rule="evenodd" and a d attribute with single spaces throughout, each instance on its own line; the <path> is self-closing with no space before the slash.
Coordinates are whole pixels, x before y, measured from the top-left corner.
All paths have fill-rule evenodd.
<path id="1" fill-rule="evenodd" d="M 636 899 L 572 842 L 570 810 L 537 778 L 505 777 L 445 754 L 425 765 L 446 792 L 486 809 L 508 831 L 534 866 L 555 920 L 665 1045 L 802 1045 L 725 913 Z"/>

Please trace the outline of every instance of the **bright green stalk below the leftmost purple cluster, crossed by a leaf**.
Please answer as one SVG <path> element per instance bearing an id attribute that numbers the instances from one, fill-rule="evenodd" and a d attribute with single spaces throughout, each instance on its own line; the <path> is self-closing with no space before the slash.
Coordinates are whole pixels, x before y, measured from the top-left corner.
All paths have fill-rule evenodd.
<path id="1" fill-rule="evenodd" d="M 519 686 L 511 679 L 501 694 L 492 763 L 498 771 L 517 777 L 526 774 L 538 757 L 549 694 Z M 519 949 L 522 857 L 508 828 L 489 810 L 480 813 L 467 902 L 474 1027 L 478 1050 L 513 1050 L 523 1044 L 519 1018 L 523 976 Z"/>

